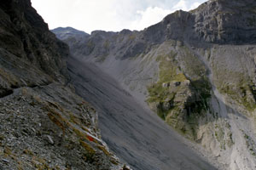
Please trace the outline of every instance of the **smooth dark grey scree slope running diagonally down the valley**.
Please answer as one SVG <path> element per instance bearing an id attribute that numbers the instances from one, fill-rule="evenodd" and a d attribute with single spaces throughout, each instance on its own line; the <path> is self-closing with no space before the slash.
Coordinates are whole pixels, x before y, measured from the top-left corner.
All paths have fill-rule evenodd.
<path id="1" fill-rule="evenodd" d="M 133 169 L 217 169 L 153 112 L 138 105 L 113 78 L 76 59 L 69 59 L 67 65 L 77 93 L 99 112 L 102 138 Z"/>

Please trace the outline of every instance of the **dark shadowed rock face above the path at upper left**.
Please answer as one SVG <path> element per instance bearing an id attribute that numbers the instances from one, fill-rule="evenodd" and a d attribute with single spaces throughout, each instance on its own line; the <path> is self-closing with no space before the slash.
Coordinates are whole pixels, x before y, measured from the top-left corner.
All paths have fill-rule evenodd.
<path id="1" fill-rule="evenodd" d="M 1 3 L 1 40 L 2 48 L 53 77 L 66 70 L 67 45 L 49 32 L 29 0 Z"/>

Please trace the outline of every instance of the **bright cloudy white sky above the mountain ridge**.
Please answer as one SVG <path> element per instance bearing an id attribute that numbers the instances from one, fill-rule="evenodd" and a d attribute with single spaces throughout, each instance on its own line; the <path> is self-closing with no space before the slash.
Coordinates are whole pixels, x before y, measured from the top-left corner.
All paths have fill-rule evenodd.
<path id="1" fill-rule="evenodd" d="M 32 0 L 49 29 L 71 26 L 95 30 L 143 30 L 167 14 L 197 8 L 207 0 Z"/>

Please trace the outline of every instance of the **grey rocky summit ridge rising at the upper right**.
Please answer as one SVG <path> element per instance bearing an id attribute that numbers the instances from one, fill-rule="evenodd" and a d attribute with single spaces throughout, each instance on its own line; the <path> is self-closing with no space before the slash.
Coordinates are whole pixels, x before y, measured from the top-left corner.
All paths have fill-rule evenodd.
<path id="1" fill-rule="evenodd" d="M 254 43 L 256 37 L 256 1 L 212 0 L 185 12 L 177 10 L 160 23 L 149 26 L 148 41 L 166 39 L 211 43 Z"/>

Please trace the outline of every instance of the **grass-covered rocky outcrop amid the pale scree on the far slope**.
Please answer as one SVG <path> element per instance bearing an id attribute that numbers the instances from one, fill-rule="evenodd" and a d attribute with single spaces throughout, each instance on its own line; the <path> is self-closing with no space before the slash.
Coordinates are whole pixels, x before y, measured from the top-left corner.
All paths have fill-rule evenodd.
<path id="1" fill-rule="evenodd" d="M 159 81 L 148 86 L 148 104 L 169 125 L 189 139 L 196 139 L 198 120 L 209 109 L 212 86 L 207 79 L 207 71 L 189 48 L 182 47 L 186 71 L 195 75 L 189 80 L 181 71 L 176 60 L 177 53 L 171 51 L 159 55 Z M 192 59 L 192 60 L 191 60 Z M 194 62 L 195 61 L 195 62 Z M 188 62 L 188 63 L 186 63 Z M 191 65 L 191 62 L 193 65 Z M 190 64 L 189 64 L 190 63 Z"/>

